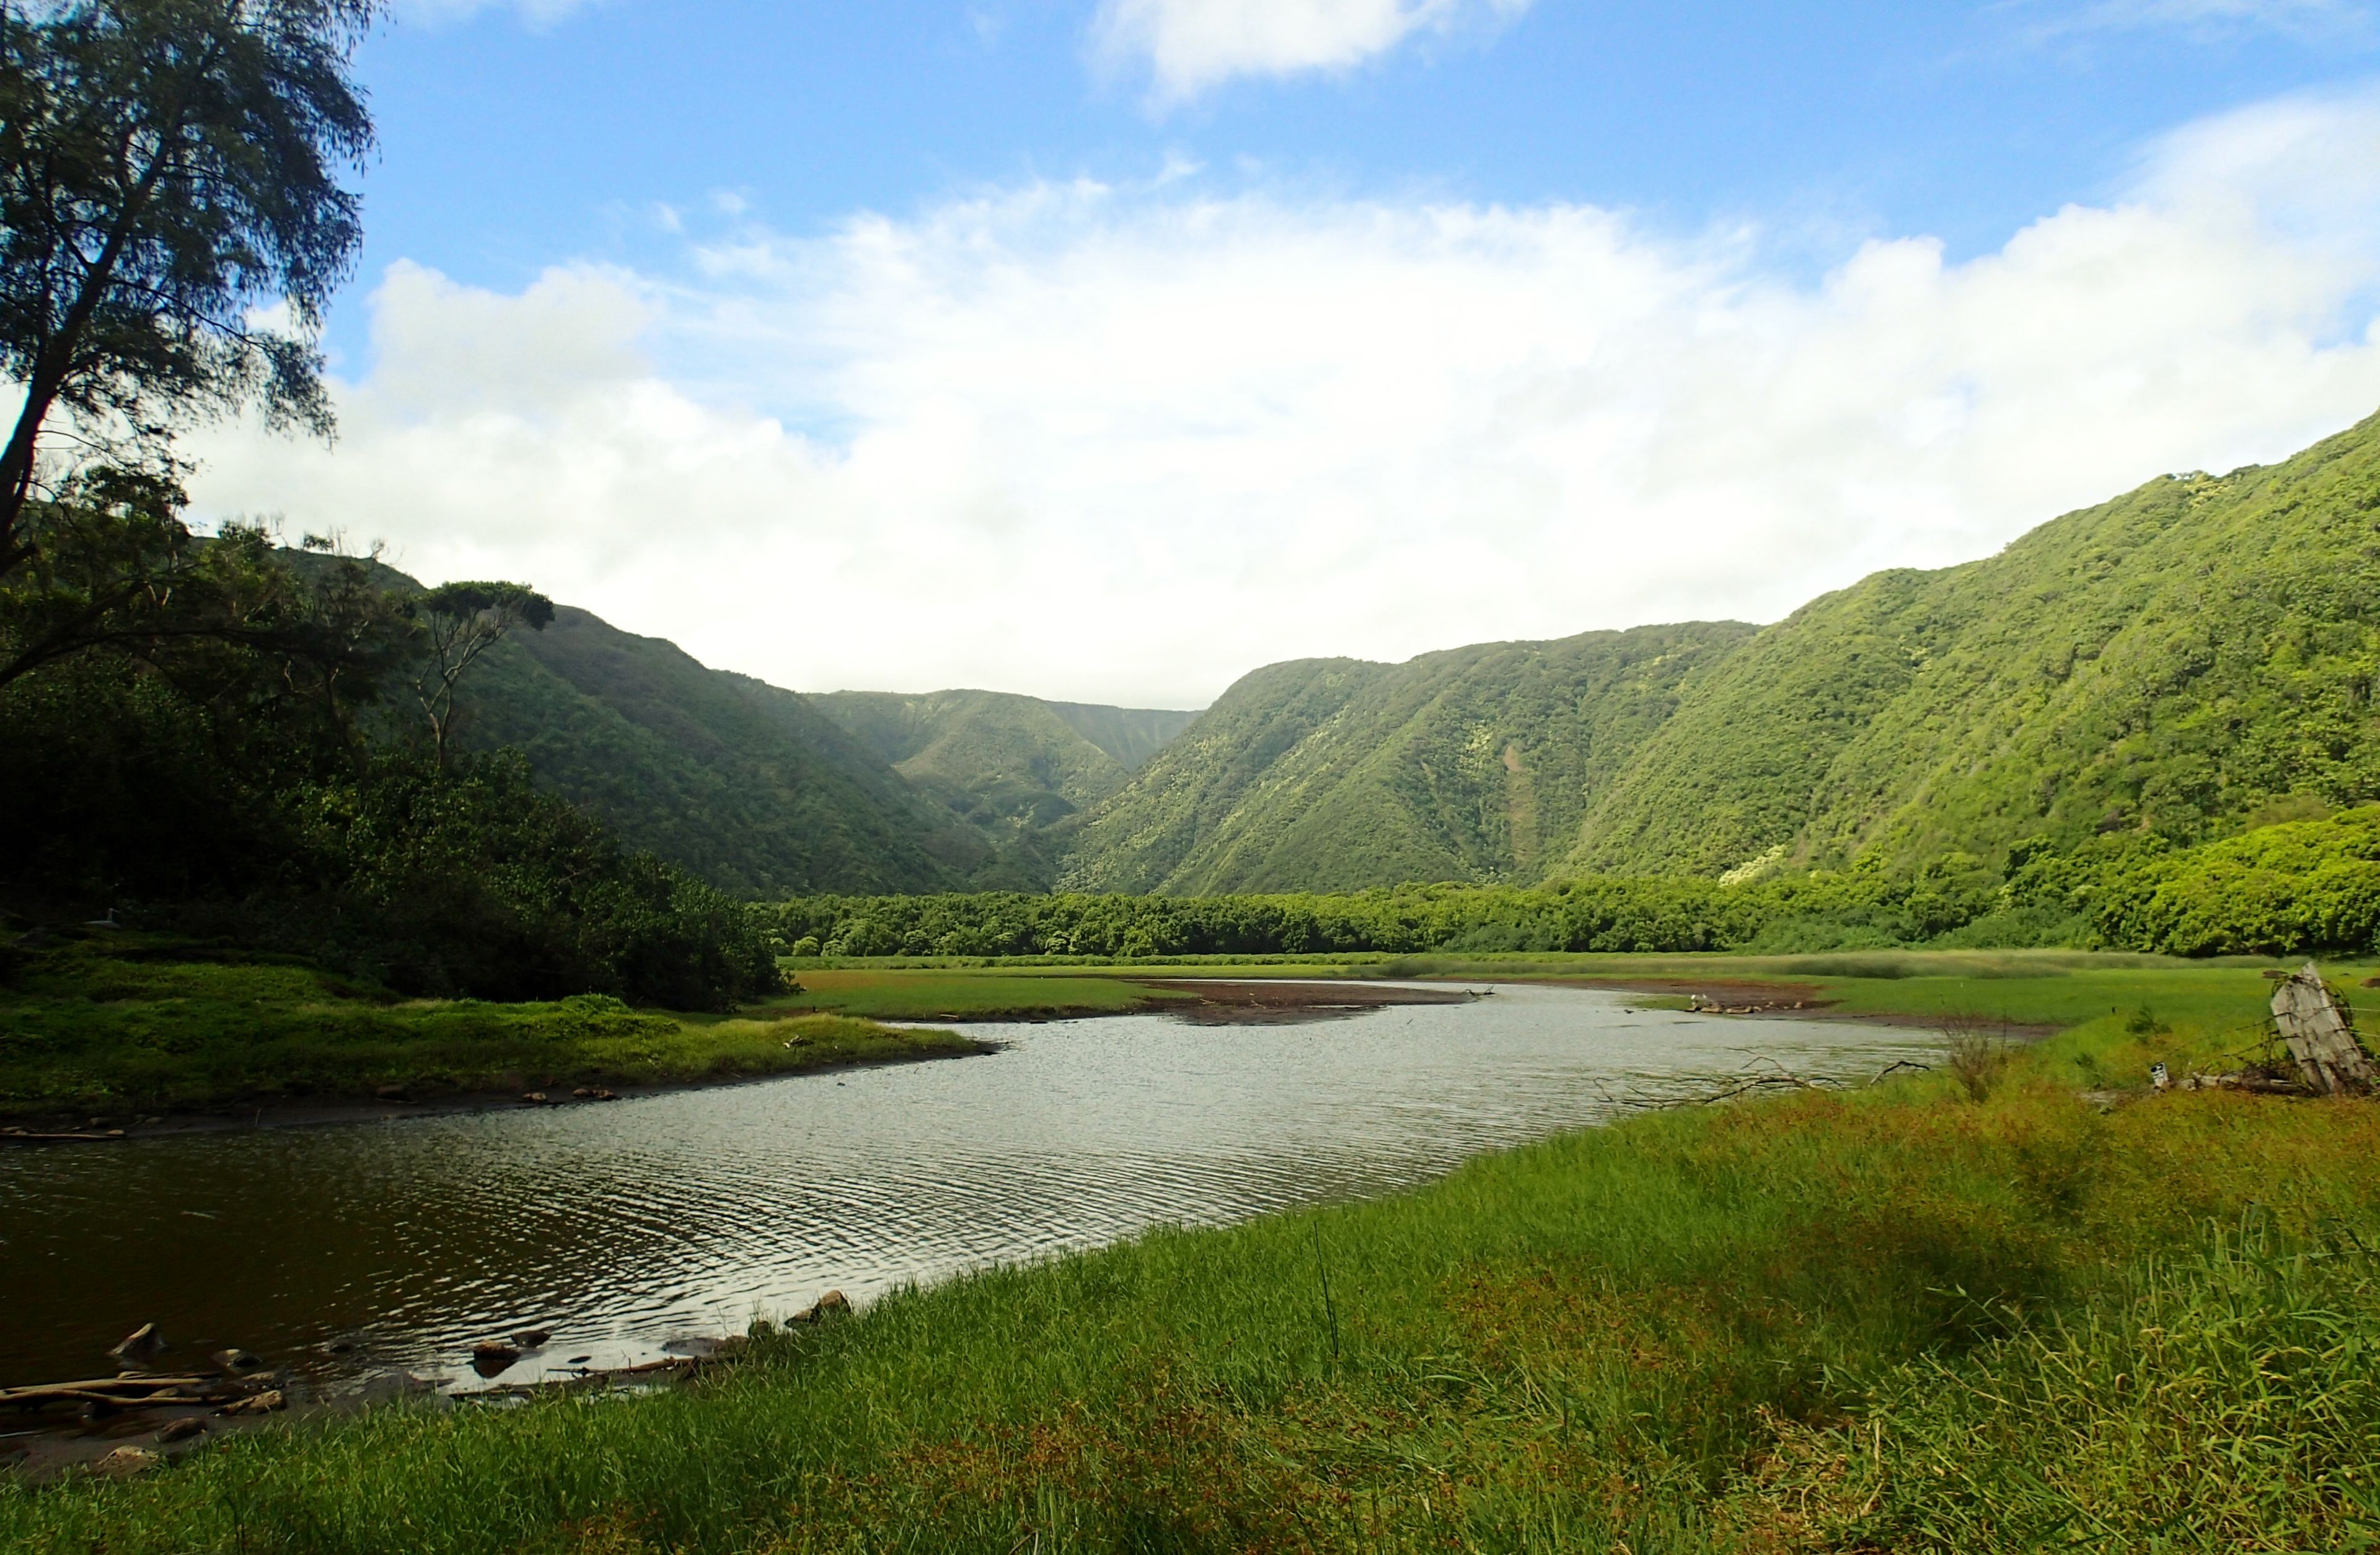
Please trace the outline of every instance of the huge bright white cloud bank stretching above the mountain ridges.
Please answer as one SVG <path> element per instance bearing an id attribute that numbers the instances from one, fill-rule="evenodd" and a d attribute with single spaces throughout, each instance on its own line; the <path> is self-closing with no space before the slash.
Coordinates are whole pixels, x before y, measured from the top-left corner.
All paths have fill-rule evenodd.
<path id="1" fill-rule="evenodd" d="M 2316 155 L 2318 152 L 2318 155 Z M 693 279 L 419 267 L 333 450 L 214 512 L 388 536 L 802 688 L 1197 705 L 1280 657 L 1773 619 L 2380 407 L 2380 100 L 2190 126 L 1999 252 L 1578 205 L 1031 186 Z"/>

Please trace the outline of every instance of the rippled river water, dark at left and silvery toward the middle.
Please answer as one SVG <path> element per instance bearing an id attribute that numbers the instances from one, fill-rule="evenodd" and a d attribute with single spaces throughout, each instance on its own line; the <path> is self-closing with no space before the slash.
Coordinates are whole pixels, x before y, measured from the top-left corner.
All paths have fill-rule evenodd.
<path id="1" fill-rule="evenodd" d="M 854 1300 L 1161 1222 L 1380 1193 L 1464 1155 L 1742 1069 L 1873 1074 L 1923 1036 L 1499 988 L 1295 1026 L 964 1026 L 992 1057 L 609 1107 L 0 1155 L 0 1384 L 105 1372 L 155 1319 L 317 1379 L 626 1364 L 843 1288 Z"/>

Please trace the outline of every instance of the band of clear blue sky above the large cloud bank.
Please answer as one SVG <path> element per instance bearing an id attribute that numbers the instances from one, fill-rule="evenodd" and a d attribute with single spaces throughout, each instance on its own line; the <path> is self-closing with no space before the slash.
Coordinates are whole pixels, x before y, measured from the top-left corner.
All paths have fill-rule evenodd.
<path id="1" fill-rule="evenodd" d="M 1473 7 L 1359 64 L 1188 102 L 1081 0 L 597 0 L 402 14 L 362 57 L 383 160 L 364 274 L 521 286 L 669 262 L 657 207 L 804 231 L 1019 179 L 1216 179 L 1626 207 L 1664 226 L 1925 231 L 1952 257 L 2106 195 L 2175 124 L 2380 64 L 2349 5 Z M 352 319 L 350 319 L 352 321 Z"/>

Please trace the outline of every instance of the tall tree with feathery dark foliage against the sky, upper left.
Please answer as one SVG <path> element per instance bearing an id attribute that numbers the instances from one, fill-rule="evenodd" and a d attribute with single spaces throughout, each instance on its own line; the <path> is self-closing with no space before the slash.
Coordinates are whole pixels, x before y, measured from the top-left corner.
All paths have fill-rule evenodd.
<path id="1" fill-rule="evenodd" d="M 321 312 L 371 150 L 347 62 L 378 0 L 0 0 L 0 579 L 90 462 L 171 474 L 245 407 L 331 433 Z M 52 452 L 64 445 L 64 455 Z"/>

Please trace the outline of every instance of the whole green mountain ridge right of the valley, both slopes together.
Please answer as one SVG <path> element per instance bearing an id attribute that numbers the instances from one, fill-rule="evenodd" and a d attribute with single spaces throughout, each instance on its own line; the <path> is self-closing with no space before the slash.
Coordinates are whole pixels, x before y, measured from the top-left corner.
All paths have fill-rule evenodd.
<path id="1" fill-rule="evenodd" d="M 1083 824 L 1085 891 L 1997 869 L 2380 798 L 2380 417 L 1766 629 L 1273 664 Z"/>

